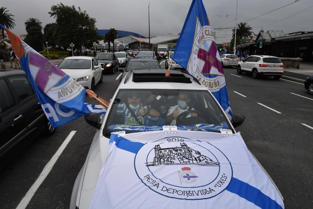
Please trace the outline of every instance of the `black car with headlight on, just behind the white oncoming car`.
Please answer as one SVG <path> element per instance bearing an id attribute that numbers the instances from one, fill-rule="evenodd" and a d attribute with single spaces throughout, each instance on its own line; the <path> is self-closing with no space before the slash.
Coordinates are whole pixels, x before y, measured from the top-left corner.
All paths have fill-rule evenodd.
<path id="1" fill-rule="evenodd" d="M 114 72 L 119 69 L 120 63 L 114 53 L 101 52 L 98 53 L 95 58 L 101 64 L 102 72 L 114 74 Z"/>

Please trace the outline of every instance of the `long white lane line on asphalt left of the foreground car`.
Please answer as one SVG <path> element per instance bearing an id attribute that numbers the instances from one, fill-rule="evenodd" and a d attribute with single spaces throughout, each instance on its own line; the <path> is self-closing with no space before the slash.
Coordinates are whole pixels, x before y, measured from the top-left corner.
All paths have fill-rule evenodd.
<path id="1" fill-rule="evenodd" d="M 62 154 L 63 150 L 69 144 L 69 141 L 72 139 L 76 131 L 71 131 L 69 135 L 66 137 L 64 142 L 59 147 L 58 151 L 52 156 L 50 161 L 47 163 L 46 166 L 44 166 L 44 170 L 42 170 L 41 174 L 39 175 L 38 179 L 35 181 L 35 183 L 30 187 L 26 195 L 23 197 L 21 202 L 16 207 L 17 209 L 24 209 L 28 205 L 29 201 L 32 199 L 33 195 L 39 188 L 39 186 L 42 184 L 44 179 L 48 176 L 49 172 L 51 171 L 52 167 L 54 166 L 55 162 L 59 158 L 59 156 Z"/>

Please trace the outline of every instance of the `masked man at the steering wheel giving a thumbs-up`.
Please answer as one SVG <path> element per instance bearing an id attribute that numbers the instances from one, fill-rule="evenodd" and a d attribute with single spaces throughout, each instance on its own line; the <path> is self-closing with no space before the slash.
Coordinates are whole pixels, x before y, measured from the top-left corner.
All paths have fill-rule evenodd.
<path id="1" fill-rule="evenodd" d="M 178 105 L 170 107 L 167 111 L 167 116 L 165 118 L 165 122 L 170 125 L 176 125 L 176 118 L 187 110 L 195 110 L 193 108 L 188 107 L 188 103 L 190 102 L 189 95 L 184 92 L 180 92 L 178 95 Z M 197 113 L 189 113 L 186 118 L 189 117 L 197 117 Z"/>

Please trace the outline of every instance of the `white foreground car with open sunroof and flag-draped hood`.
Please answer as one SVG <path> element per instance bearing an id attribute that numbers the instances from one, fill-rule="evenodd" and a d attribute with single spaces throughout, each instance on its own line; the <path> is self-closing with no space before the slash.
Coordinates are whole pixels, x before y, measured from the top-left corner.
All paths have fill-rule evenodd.
<path id="1" fill-rule="evenodd" d="M 189 131 L 202 131 L 202 133 L 207 133 L 209 138 L 212 134 L 221 134 L 219 129 L 217 130 L 217 127 L 220 128 L 220 126 L 236 133 L 234 127 L 244 122 L 244 117 L 236 114 L 233 114 L 231 122 L 212 93 L 187 72 L 171 70 L 171 76 L 168 79 L 164 79 L 164 73 L 165 71 L 162 69 L 129 71 L 123 77 L 110 100 L 106 114 L 91 113 L 85 115 L 86 122 L 98 130 L 91 143 L 83 168 L 75 180 L 70 202 L 71 209 L 89 208 L 101 167 L 109 153 L 111 133 L 115 131 L 134 133 L 162 130 L 162 125 L 169 124 L 164 122 L 164 118 L 166 118 L 170 106 L 178 103 L 180 92 L 185 94 L 188 92 L 190 98 L 190 102 L 187 104 L 188 111 L 181 113 L 176 119 L 177 128 L 180 130 L 185 128 L 184 130 Z M 148 125 L 140 125 L 140 123 L 136 124 L 134 118 L 131 119 L 127 113 L 127 117 L 123 117 L 121 106 L 127 107 L 131 99 L 139 100 L 137 101 L 139 103 L 150 101 L 149 106 L 160 112 L 159 119 L 153 124 L 149 122 Z M 132 104 L 132 106 L 134 105 Z M 190 117 L 189 114 L 191 115 L 191 113 L 197 113 L 197 117 Z M 140 118 L 135 120 L 141 122 Z M 144 121 L 144 119 L 142 120 Z M 261 165 L 260 167 L 262 168 Z M 266 175 L 265 170 L 264 174 Z"/>

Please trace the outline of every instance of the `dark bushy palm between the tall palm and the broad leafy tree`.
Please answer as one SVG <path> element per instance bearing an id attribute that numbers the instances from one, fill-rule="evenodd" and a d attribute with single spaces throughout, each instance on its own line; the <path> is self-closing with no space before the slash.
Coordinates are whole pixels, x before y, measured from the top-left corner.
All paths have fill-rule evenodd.
<path id="1" fill-rule="evenodd" d="M 24 39 L 30 47 L 36 51 L 42 51 L 44 35 L 42 34 L 42 22 L 37 18 L 29 18 L 25 22 L 26 38 Z"/>

